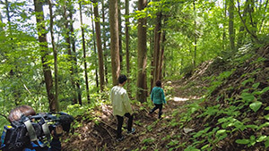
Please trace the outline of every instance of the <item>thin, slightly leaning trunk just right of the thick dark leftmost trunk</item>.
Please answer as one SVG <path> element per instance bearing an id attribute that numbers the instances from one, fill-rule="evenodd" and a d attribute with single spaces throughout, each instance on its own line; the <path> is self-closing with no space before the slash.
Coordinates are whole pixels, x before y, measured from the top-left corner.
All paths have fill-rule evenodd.
<path id="1" fill-rule="evenodd" d="M 57 61 L 57 50 L 56 50 L 56 44 L 55 44 L 55 40 L 54 40 L 54 30 L 53 30 L 53 11 L 52 11 L 52 7 L 53 4 L 51 2 L 51 0 L 48 0 L 48 4 L 49 4 L 49 19 L 50 19 L 50 36 L 51 36 L 51 44 L 52 44 L 52 49 L 53 49 L 53 56 L 54 56 L 54 80 L 55 80 L 55 102 L 56 102 L 56 106 L 59 106 L 58 104 L 58 61 Z M 58 107 L 57 107 L 58 108 Z"/>

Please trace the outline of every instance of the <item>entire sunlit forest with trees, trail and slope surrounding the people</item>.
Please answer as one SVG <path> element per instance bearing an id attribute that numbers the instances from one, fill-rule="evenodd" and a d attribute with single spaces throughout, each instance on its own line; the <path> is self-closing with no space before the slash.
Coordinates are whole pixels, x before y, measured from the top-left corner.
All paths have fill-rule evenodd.
<path id="1" fill-rule="evenodd" d="M 74 116 L 63 150 L 269 147 L 268 0 L 0 0 L 0 39 L 0 131 L 30 105 Z M 136 127 L 122 143 L 120 74 Z M 162 120 L 147 116 L 156 80 Z"/>

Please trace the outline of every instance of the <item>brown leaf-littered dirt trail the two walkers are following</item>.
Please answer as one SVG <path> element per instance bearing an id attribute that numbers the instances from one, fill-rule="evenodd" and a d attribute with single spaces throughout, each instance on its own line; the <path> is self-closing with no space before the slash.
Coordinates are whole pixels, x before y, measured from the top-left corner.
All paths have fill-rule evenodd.
<path id="1" fill-rule="evenodd" d="M 181 86 L 180 86 L 181 84 Z M 112 115 L 111 106 L 103 105 L 100 109 L 95 109 L 91 113 L 98 116 L 99 122 L 80 121 L 82 127 L 73 131 L 71 138 L 67 138 L 63 142 L 64 151 L 94 151 L 94 150 L 108 150 L 108 151 L 123 151 L 123 150 L 154 150 L 165 149 L 167 142 L 162 141 L 162 138 L 173 133 L 173 129 L 168 129 L 168 123 L 173 120 L 172 113 L 190 100 L 197 98 L 195 91 L 184 88 L 187 83 L 183 84 L 180 81 L 168 82 L 167 88 L 171 88 L 169 95 L 166 96 L 167 105 L 163 108 L 163 118 L 158 119 L 158 110 L 155 111 L 153 117 L 148 115 L 151 108 L 148 106 L 134 105 L 134 128 L 135 132 L 132 135 L 126 134 L 126 129 L 123 130 L 125 139 L 121 142 L 115 140 L 117 119 Z M 166 88 L 166 87 L 165 87 Z M 166 91 L 166 89 L 164 90 Z M 89 114 L 91 114 L 89 113 Z M 85 115 L 87 116 L 87 115 Z M 124 122 L 126 127 L 126 118 Z"/>

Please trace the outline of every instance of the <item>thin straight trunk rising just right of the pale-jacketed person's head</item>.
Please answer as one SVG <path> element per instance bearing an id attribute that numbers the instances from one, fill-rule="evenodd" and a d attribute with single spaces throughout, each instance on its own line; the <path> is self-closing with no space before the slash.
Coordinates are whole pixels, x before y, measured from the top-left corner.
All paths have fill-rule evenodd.
<path id="1" fill-rule="evenodd" d="M 130 35 L 129 35 L 129 0 L 126 0 L 126 71 L 127 71 L 127 75 L 128 77 L 130 76 L 130 53 L 129 53 L 129 49 L 130 49 Z M 127 89 L 128 92 L 130 93 L 130 84 L 127 83 Z"/>

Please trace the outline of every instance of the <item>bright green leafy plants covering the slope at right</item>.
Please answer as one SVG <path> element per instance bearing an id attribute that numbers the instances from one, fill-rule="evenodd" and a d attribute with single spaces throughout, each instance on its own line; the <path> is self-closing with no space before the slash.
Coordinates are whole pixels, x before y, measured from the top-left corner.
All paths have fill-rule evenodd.
<path id="1" fill-rule="evenodd" d="M 220 96 L 216 96 L 216 102 L 208 103 L 208 98 L 211 98 L 213 91 L 225 86 L 225 82 L 237 71 L 236 69 L 223 71 L 219 76 L 212 77 L 211 85 L 205 97 L 200 102 L 195 101 L 193 104 L 188 105 L 187 112 L 179 115 L 180 120 L 178 123 L 175 121 L 170 122 L 170 125 L 180 125 L 180 128 L 184 128 L 192 120 L 203 120 L 203 125 L 200 125 L 201 128 L 191 134 L 192 143 L 185 150 L 213 150 L 224 138 L 235 133 L 247 133 L 249 130 L 253 132 L 253 135 L 249 138 L 238 138 L 236 143 L 246 145 L 246 147 L 253 147 L 257 143 L 264 143 L 266 148 L 269 146 L 269 140 L 262 131 L 268 126 L 268 114 L 262 114 L 254 121 L 250 120 L 249 115 L 247 115 L 248 113 L 263 113 L 269 110 L 269 107 L 265 106 L 265 100 L 262 98 L 262 95 L 269 88 L 260 88 L 261 83 L 252 78 L 256 76 L 258 71 L 252 71 L 251 74 L 241 76 L 245 80 L 239 83 L 236 88 L 240 89 L 238 96 L 223 98 L 223 95 L 220 94 Z M 230 87 L 230 89 L 234 90 L 235 88 Z M 208 104 L 201 106 L 199 103 L 203 102 Z M 215 104 L 217 102 L 220 104 Z M 225 103 L 224 105 L 222 104 L 223 102 Z M 173 115 L 177 115 L 177 113 L 173 113 Z"/>

